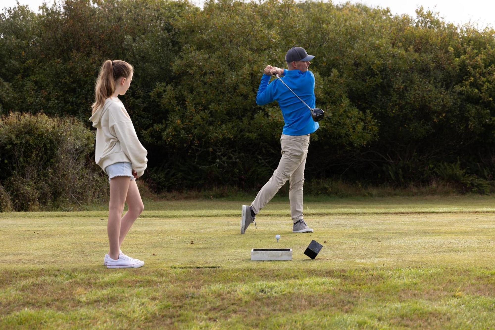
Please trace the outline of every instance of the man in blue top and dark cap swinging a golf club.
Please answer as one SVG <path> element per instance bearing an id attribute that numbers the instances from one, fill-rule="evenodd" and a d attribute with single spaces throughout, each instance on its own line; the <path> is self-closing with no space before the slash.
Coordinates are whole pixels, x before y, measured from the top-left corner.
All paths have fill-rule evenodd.
<path id="1" fill-rule="evenodd" d="M 289 200 L 293 232 L 313 232 L 302 215 L 304 183 L 304 165 L 309 146 L 309 134 L 320 126 L 317 120 L 323 116 L 323 110 L 315 107 L 314 75 L 308 71 L 313 55 L 308 55 L 301 47 L 291 48 L 285 55 L 288 69 L 267 65 L 256 95 L 260 106 L 277 101 L 284 117 L 284 128 L 280 138 L 282 158 L 272 177 L 261 188 L 250 206 L 243 205 L 241 216 L 241 234 L 254 222 L 256 214 L 270 201 L 277 191 L 289 180 Z M 272 75 L 281 76 L 273 80 Z M 285 82 L 285 84 L 283 84 Z M 302 102 L 301 102 L 302 101 Z M 315 115 L 314 111 L 321 112 Z M 317 117 L 318 116 L 318 117 Z"/>

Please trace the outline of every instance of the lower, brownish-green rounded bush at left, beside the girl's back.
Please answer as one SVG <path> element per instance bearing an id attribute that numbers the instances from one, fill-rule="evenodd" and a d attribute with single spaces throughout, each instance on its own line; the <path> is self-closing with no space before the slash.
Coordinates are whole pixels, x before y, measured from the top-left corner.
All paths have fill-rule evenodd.
<path id="1" fill-rule="evenodd" d="M 90 157 L 94 134 L 75 119 L 13 113 L 0 119 L 0 211 L 106 200 L 107 179 Z"/>

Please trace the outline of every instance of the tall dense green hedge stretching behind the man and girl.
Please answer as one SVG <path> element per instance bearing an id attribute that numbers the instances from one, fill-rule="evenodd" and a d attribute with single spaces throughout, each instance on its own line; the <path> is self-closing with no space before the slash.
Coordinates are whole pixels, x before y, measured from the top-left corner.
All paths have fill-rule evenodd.
<path id="1" fill-rule="evenodd" d="M 203 9 L 65 0 L 40 14 L 5 10 L 0 34 L 0 113 L 68 114 L 89 126 L 100 64 L 132 63 L 122 100 L 156 190 L 264 184 L 279 160 L 283 120 L 276 104 L 255 104 L 256 90 L 263 67 L 284 66 L 296 45 L 316 55 L 310 69 L 326 110 L 307 180 L 406 187 L 437 180 L 436 169 L 458 159 L 465 175 L 484 180 L 462 189 L 486 191 L 493 179 L 495 31 L 446 24 L 422 8 L 410 17 L 292 0 Z"/>

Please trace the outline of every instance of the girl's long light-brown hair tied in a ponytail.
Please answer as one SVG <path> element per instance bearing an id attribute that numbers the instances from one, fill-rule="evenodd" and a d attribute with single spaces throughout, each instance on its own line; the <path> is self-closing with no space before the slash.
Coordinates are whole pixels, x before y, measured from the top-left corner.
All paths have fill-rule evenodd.
<path id="1" fill-rule="evenodd" d="M 115 93 L 115 83 L 122 77 L 129 78 L 134 68 L 126 61 L 116 59 L 106 60 L 99 70 L 98 79 L 95 86 L 95 103 L 91 106 L 92 113 L 95 113 L 105 103 L 106 99 Z"/>

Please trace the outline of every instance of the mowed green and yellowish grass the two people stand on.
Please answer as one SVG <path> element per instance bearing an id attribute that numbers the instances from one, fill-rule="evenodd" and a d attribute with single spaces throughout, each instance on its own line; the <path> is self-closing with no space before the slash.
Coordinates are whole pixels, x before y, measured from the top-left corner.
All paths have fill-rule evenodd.
<path id="1" fill-rule="evenodd" d="M 130 270 L 102 266 L 103 208 L 0 213 L 0 329 L 495 328 L 493 201 L 307 198 L 315 232 L 293 234 L 278 198 L 245 235 L 248 201 L 148 201 L 122 245 L 146 265 Z M 250 261 L 276 247 L 293 260 Z"/>

